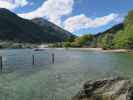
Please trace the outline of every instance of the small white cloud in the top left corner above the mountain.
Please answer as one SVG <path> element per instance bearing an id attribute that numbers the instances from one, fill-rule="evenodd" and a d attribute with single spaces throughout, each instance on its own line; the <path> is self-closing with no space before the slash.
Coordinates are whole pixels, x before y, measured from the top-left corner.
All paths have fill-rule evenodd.
<path id="1" fill-rule="evenodd" d="M 15 9 L 28 4 L 27 0 L 0 0 L 0 8 Z"/>

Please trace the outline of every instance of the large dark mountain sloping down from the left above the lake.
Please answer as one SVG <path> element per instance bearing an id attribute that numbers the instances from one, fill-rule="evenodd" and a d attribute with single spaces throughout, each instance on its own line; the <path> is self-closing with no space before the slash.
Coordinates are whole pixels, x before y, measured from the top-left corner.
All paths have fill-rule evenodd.
<path id="1" fill-rule="evenodd" d="M 28 43 L 65 41 L 71 33 L 44 20 L 43 27 L 37 20 L 26 20 L 7 9 L 0 8 L 0 40 Z M 36 22 L 36 23 L 35 23 Z M 58 29 L 56 30 L 56 27 Z"/>

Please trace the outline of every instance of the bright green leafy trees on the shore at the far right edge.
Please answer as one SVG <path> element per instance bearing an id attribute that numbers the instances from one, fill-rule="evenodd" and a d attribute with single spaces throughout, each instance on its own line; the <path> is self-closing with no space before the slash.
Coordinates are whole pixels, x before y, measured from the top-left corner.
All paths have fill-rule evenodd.
<path id="1" fill-rule="evenodd" d="M 110 38 L 106 39 L 102 44 L 103 48 L 110 49 L 133 49 L 133 11 L 130 11 L 125 17 L 123 22 L 123 28 L 116 30 L 114 33 L 106 33 L 102 40 L 105 40 L 107 35 L 111 35 Z"/>

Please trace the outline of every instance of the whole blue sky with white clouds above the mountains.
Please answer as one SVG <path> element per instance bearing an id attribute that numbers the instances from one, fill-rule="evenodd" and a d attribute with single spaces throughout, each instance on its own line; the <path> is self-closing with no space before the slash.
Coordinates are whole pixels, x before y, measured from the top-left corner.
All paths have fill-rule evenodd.
<path id="1" fill-rule="evenodd" d="M 25 19 L 43 17 L 75 35 L 97 34 L 123 22 L 133 0 L 0 0 Z"/>

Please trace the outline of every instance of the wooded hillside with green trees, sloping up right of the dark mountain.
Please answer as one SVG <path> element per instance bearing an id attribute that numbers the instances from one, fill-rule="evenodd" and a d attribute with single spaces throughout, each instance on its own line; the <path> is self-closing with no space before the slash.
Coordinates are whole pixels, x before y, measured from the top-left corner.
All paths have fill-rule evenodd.
<path id="1" fill-rule="evenodd" d="M 97 35 L 83 35 L 55 47 L 101 47 L 103 49 L 133 49 L 133 11 L 123 23 Z"/>

